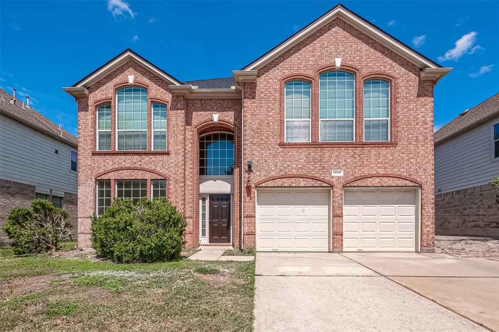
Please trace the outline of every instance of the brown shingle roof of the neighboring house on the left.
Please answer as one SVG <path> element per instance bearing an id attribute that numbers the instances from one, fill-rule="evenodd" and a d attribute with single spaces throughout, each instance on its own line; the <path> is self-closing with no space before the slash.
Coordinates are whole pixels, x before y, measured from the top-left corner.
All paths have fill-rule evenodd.
<path id="1" fill-rule="evenodd" d="M 78 146 L 77 137 L 60 128 L 57 124 L 32 108 L 28 108 L 26 105 L 23 106 L 22 102 L 15 100 L 15 104 L 11 104 L 10 101 L 12 99 L 13 97 L 11 95 L 0 89 L 0 109 L 2 113 L 35 129 L 45 131 L 47 134 L 62 141 L 66 141 L 73 146 Z"/>

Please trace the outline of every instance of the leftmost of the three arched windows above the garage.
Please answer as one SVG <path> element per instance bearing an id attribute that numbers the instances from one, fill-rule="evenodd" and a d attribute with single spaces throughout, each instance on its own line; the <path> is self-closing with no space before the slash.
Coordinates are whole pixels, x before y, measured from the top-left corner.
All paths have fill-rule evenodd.
<path id="1" fill-rule="evenodd" d="M 303 81 L 284 86 L 285 142 L 310 142 L 310 87 Z"/>

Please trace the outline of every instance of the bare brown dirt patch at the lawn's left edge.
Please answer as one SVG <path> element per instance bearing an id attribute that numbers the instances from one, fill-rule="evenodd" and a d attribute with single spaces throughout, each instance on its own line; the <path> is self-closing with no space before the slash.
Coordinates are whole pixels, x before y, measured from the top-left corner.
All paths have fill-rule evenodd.
<path id="1" fill-rule="evenodd" d="M 0 296 L 3 300 L 9 300 L 16 296 L 42 292 L 50 288 L 50 281 L 63 281 L 68 278 L 68 274 L 59 276 L 45 274 L 36 277 L 16 279 L 9 283 L 0 284 Z"/>

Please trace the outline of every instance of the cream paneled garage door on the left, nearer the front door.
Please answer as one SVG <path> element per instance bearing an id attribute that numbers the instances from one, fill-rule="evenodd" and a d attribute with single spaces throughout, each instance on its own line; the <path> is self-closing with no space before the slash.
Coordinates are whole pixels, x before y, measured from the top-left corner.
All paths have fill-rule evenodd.
<path id="1" fill-rule="evenodd" d="M 258 189 L 256 250 L 328 251 L 329 190 Z"/>

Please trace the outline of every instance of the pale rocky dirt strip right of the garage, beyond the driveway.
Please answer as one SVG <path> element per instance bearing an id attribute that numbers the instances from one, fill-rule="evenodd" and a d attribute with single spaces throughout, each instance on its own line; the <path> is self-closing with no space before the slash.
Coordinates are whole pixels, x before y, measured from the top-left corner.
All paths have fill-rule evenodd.
<path id="1" fill-rule="evenodd" d="M 435 252 L 455 257 L 486 257 L 499 259 L 499 239 L 458 237 L 435 239 Z"/>

